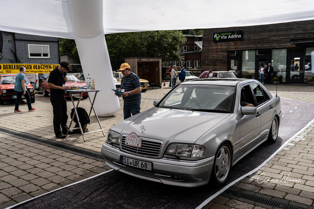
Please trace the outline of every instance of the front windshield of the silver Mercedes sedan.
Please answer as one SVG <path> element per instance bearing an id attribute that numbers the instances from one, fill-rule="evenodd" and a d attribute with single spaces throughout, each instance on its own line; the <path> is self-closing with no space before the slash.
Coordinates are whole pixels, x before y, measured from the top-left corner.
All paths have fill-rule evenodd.
<path id="1" fill-rule="evenodd" d="M 160 108 L 231 113 L 235 87 L 179 85 L 159 104 Z"/>

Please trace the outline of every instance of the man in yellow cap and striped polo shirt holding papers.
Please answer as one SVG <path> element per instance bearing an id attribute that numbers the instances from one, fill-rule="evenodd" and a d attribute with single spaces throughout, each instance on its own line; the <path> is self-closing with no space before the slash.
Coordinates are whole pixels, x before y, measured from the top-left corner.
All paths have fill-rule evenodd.
<path id="1" fill-rule="evenodd" d="M 122 93 L 123 115 L 124 119 L 140 113 L 141 105 L 141 83 L 138 76 L 131 72 L 131 67 L 128 63 L 123 63 L 119 69 L 123 76 L 121 80 L 120 92 Z M 117 96 L 119 94 L 115 93 Z"/>

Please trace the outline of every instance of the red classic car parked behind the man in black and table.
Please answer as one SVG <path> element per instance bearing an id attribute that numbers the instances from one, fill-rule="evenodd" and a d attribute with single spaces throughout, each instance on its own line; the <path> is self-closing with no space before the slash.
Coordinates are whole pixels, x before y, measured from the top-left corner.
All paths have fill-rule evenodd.
<path id="1" fill-rule="evenodd" d="M 86 87 L 86 84 L 84 82 L 80 82 L 77 77 L 75 77 L 74 75 L 66 75 L 68 78 L 68 81 L 65 83 L 65 86 L 71 87 L 71 88 L 75 88 L 75 87 Z M 43 94 L 44 96 L 49 96 L 50 93 L 50 87 L 48 87 L 48 79 L 49 76 L 46 78 L 46 80 L 43 82 Z M 72 96 L 79 96 L 79 93 L 76 94 L 72 94 Z M 69 93 L 65 93 L 65 98 L 66 99 L 71 99 L 70 94 Z M 88 94 L 87 93 L 83 93 L 82 94 L 82 98 L 83 99 L 87 99 L 88 98 Z"/>

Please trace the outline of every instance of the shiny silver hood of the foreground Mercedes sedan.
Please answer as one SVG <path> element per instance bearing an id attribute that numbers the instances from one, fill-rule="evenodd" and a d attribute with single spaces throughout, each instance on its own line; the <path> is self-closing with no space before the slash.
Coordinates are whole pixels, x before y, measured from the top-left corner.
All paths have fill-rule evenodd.
<path id="1" fill-rule="evenodd" d="M 111 129 L 121 131 L 122 128 L 122 132 L 118 131 L 121 134 L 135 132 L 139 137 L 160 139 L 164 142 L 194 143 L 229 115 L 154 107 L 122 121 Z"/>

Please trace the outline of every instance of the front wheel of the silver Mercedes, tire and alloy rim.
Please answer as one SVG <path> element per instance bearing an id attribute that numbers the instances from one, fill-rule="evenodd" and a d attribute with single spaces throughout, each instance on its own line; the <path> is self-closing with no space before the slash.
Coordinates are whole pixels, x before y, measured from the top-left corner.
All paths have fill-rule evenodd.
<path id="1" fill-rule="evenodd" d="M 228 143 L 223 143 L 215 154 L 214 164 L 211 170 L 211 181 L 216 186 L 226 184 L 231 170 L 231 148 Z"/>

